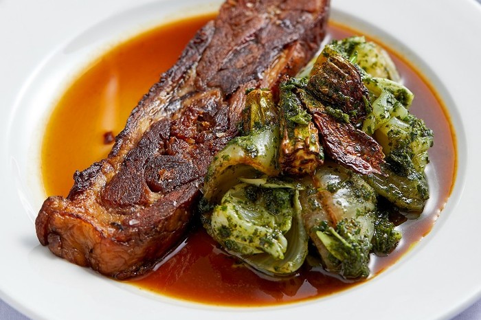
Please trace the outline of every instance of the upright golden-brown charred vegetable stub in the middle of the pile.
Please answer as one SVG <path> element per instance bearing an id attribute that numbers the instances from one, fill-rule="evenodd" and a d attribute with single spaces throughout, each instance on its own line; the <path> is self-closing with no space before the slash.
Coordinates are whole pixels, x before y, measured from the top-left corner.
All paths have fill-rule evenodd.
<path id="1" fill-rule="evenodd" d="M 324 162 L 319 132 L 295 94 L 295 79 L 280 84 L 279 165 L 287 174 L 313 174 Z"/>

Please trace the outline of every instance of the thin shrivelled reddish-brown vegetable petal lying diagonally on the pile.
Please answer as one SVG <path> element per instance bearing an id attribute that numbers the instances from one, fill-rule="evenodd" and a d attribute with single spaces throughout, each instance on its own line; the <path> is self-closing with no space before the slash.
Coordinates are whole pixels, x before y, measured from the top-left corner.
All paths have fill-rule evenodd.
<path id="1" fill-rule="evenodd" d="M 320 131 L 326 153 L 339 163 L 361 174 L 381 174 L 384 154 L 372 137 L 352 124 L 338 121 L 328 108 L 307 91 L 299 89 L 302 103 L 308 108 Z"/>

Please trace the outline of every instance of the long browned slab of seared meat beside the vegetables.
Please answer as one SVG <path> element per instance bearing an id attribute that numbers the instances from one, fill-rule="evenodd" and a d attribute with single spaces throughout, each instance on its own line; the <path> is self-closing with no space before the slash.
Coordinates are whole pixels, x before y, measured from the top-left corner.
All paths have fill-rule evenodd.
<path id="1" fill-rule="evenodd" d="M 110 277 L 149 271 L 183 237 L 199 185 L 251 87 L 276 89 L 324 38 L 328 0 L 230 0 L 133 109 L 107 159 L 47 198 L 41 244 Z M 160 57 L 159 57 L 160 58 Z"/>

